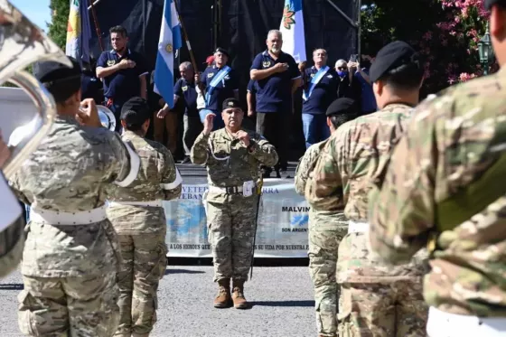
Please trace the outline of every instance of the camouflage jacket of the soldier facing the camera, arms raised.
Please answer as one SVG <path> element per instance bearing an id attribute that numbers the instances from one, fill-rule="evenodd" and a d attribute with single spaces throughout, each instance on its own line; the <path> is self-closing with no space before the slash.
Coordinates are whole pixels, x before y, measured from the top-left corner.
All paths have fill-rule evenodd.
<path id="1" fill-rule="evenodd" d="M 258 181 L 260 164 L 274 166 L 277 153 L 273 145 L 258 134 L 248 132 L 252 142 L 252 152 L 231 136 L 226 128 L 211 132 L 206 136 L 201 133 L 192 147 L 192 163 L 206 164 L 208 183 L 214 186 L 242 186 L 248 181 Z M 225 194 L 210 193 L 208 201 L 224 201 Z"/>

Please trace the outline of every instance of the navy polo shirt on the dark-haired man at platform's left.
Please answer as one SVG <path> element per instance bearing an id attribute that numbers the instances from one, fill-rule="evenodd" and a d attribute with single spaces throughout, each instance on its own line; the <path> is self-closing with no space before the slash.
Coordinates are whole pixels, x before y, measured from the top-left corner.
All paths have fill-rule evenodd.
<path id="1" fill-rule="evenodd" d="M 118 104 L 135 96 L 140 96 L 141 83 L 139 78 L 148 75 L 145 68 L 145 61 L 141 54 L 128 50 L 126 54 L 119 57 L 115 50 L 103 51 L 97 61 L 97 68 L 108 68 L 122 60 L 136 62 L 134 68 L 117 70 L 114 74 L 103 79 L 104 97 L 112 98 Z"/>

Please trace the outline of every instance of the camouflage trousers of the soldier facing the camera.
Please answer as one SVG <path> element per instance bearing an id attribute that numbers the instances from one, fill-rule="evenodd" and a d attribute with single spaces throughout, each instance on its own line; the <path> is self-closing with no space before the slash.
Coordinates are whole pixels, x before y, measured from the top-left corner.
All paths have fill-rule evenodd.
<path id="1" fill-rule="evenodd" d="M 214 281 L 248 280 L 258 196 L 230 195 L 226 202 L 207 201 L 206 216 L 212 247 Z"/>

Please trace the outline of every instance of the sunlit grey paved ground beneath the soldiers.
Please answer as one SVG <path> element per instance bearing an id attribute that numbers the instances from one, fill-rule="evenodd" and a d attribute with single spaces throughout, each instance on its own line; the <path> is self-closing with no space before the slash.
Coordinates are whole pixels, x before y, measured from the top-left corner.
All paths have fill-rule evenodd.
<path id="1" fill-rule="evenodd" d="M 214 309 L 212 267 L 168 267 L 159 290 L 152 337 L 311 337 L 316 335 L 314 298 L 307 267 L 255 267 L 247 283 L 250 310 Z M 16 273 L 0 281 L 0 336 L 21 337 Z"/>

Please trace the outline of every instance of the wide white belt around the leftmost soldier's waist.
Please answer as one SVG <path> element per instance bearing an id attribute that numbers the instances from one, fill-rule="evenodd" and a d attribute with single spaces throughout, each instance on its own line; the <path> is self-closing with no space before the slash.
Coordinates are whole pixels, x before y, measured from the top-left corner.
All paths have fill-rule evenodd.
<path id="1" fill-rule="evenodd" d="M 75 212 L 30 210 L 30 220 L 50 225 L 89 225 L 107 218 L 105 206 L 89 211 Z"/>

